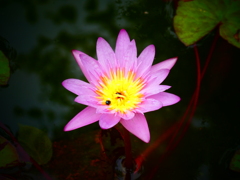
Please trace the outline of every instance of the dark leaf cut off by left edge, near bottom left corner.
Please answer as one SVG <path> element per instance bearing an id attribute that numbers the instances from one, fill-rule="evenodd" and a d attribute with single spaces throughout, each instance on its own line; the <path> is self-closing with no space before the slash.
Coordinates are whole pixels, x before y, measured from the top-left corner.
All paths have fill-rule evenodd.
<path id="1" fill-rule="evenodd" d="M 15 147 L 4 137 L 0 136 L 0 168 L 13 167 L 19 163 Z"/>

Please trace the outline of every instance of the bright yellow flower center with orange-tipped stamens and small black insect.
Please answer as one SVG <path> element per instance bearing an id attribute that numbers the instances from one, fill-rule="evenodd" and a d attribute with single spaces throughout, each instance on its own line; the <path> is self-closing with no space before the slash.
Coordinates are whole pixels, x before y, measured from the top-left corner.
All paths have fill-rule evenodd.
<path id="1" fill-rule="evenodd" d="M 102 105 L 109 106 L 110 111 L 132 111 L 142 102 L 143 94 L 140 91 L 144 85 L 143 80 L 136 78 L 133 71 L 125 73 L 124 69 L 111 70 L 109 75 L 100 78 L 97 99 Z"/>

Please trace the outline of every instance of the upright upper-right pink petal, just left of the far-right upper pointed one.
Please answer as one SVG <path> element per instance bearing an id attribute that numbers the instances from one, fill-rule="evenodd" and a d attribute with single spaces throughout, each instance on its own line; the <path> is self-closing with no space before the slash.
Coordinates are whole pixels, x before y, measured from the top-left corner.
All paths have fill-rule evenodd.
<path id="1" fill-rule="evenodd" d="M 142 76 L 151 67 L 155 56 L 154 45 L 147 46 L 138 57 L 138 76 Z"/>

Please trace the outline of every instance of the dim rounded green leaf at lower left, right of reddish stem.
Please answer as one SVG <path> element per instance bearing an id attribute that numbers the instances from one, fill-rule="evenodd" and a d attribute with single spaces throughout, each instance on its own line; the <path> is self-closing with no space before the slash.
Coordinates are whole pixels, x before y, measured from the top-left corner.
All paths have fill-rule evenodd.
<path id="1" fill-rule="evenodd" d="M 52 142 L 40 129 L 19 125 L 18 141 L 38 164 L 46 164 L 51 159 Z"/>

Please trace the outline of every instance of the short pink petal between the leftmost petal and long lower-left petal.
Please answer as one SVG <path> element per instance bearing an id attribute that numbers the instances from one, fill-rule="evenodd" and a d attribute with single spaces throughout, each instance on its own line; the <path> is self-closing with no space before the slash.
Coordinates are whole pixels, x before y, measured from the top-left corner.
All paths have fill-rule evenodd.
<path id="1" fill-rule="evenodd" d="M 84 104 L 86 106 L 95 107 L 95 108 L 99 106 L 95 96 L 91 96 L 88 94 L 81 94 L 77 96 L 74 101 L 77 103 Z"/>

